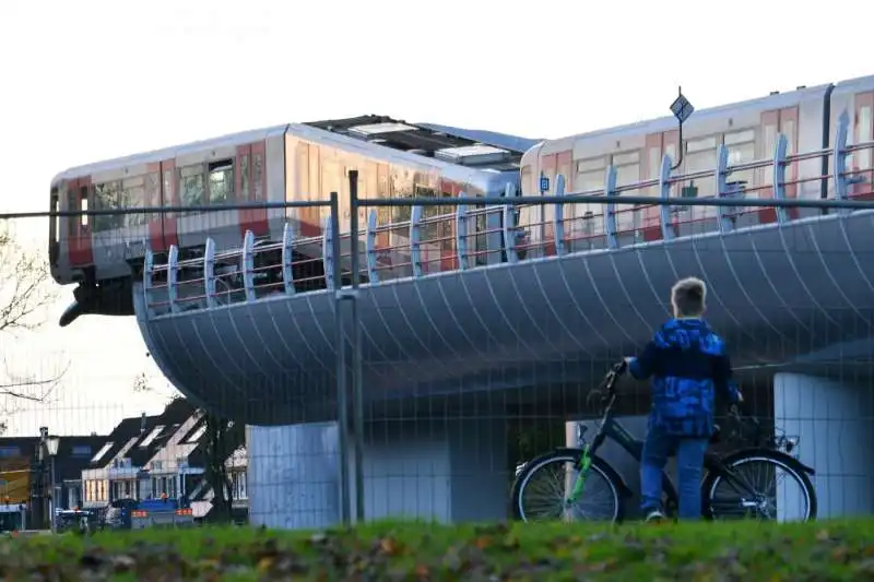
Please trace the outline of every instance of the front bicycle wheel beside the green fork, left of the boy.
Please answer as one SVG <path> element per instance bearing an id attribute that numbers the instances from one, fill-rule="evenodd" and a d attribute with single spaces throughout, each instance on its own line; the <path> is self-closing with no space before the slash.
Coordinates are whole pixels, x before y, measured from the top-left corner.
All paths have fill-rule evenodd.
<path id="1" fill-rule="evenodd" d="M 618 522 L 623 518 L 621 486 L 613 468 L 601 459 L 592 459 L 580 499 L 566 507 L 567 491 L 579 475 L 577 463 L 581 452 L 555 451 L 530 461 L 512 486 L 516 519 L 594 520 Z"/>

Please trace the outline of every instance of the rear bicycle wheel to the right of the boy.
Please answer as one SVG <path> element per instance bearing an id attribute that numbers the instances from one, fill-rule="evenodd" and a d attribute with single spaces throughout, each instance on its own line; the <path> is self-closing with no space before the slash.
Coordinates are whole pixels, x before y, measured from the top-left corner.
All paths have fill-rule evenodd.
<path id="1" fill-rule="evenodd" d="M 708 474 L 701 483 L 704 514 L 713 520 L 816 519 L 816 489 L 792 456 L 768 449 L 740 451 L 723 460 L 728 474 Z"/>

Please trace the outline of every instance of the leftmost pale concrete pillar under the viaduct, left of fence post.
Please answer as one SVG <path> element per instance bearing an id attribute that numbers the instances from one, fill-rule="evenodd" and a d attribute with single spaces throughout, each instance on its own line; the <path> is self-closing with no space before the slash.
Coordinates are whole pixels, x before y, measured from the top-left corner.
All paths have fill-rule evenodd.
<path id="1" fill-rule="evenodd" d="M 288 530 L 340 521 L 336 423 L 246 427 L 249 521 Z"/>

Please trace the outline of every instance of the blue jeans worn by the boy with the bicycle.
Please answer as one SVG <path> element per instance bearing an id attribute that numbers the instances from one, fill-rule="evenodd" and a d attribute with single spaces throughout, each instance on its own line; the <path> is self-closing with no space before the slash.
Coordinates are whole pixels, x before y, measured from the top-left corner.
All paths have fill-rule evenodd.
<path id="1" fill-rule="evenodd" d="M 645 513 L 661 509 L 662 471 L 668 458 L 676 454 L 678 516 L 681 520 L 701 518 L 701 475 L 709 442 L 710 439 L 676 437 L 650 428 L 640 462 L 640 504 Z"/>

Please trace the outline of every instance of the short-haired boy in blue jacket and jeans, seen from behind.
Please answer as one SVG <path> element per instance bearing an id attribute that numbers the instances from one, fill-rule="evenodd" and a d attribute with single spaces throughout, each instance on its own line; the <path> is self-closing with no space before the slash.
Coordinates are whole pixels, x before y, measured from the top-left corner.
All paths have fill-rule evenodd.
<path id="1" fill-rule="evenodd" d="M 731 381 L 725 344 L 707 322 L 705 283 L 684 278 L 671 289 L 674 319 L 663 324 L 637 358 L 626 358 L 629 373 L 652 377 L 652 409 L 640 463 L 640 497 L 646 521 L 662 513 L 662 470 L 676 454 L 680 519 L 701 516 L 704 456 L 713 433 L 714 392 L 742 402 Z"/>

